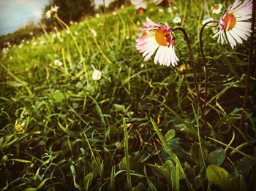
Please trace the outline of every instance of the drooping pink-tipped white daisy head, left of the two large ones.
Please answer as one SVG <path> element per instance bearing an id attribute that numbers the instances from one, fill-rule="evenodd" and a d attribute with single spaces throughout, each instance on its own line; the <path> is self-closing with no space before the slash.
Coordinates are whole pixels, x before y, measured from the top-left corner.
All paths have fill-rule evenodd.
<path id="1" fill-rule="evenodd" d="M 154 56 L 155 64 L 176 66 L 178 58 L 174 50 L 174 37 L 170 27 L 167 23 L 165 25 L 154 23 L 148 17 L 146 17 L 146 21 L 147 23 L 143 23 L 145 27 L 140 28 L 143 35 L 136 40 L 136 49 L 143 52 L 144 61 L 148 61 L 157 51 Z"/>

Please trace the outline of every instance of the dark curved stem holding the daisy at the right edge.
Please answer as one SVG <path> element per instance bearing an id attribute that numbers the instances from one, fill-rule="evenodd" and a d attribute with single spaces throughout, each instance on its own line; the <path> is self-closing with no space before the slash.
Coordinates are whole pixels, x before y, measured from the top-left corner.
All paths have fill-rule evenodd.
<path id="1" fill-rule="evenodd" d="M 200 30 L 200 35 L 199 35 L 199 42 L 200 42 L 200 51 L 203 59 L 203 66 L 205 67 L 206 73 L 205 73 L 205 98 L 204 98 L 204 103 L 203 103 L 203 112 L 206 109 L 206 103 L 207 103 L 207 92 L 208 92 L 208 68 L 206 64 L 206 56 L 203 52 L 203 29 L 210 23 L 219 23 L 219 20 L 209 20 L 208 22 L 204 23 L 201 30 Z"/>

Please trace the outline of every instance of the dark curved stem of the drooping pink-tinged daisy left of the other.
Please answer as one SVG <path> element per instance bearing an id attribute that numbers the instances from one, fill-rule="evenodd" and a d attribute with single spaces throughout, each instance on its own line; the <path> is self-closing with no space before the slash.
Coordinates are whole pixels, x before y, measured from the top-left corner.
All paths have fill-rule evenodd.
<path id="1" fill-rule="evenodd" d="M 197 85 L 196 67 L 195 67 L 193 52 L 192 52 L 191 45 L 189 42 L 189 36 L 187 35 L 186 30 L 184 28 L 182 28 L 181 26 L 172 28 L 173 32 L 177 31 L 177 30 L 181 31 L 184 34 L 184 39 L 187 42 L 187 47 L 189 49 L 189 60 L 190 60 L 190 63 L 192 64 L 193 78 L 194 78 L 194 82 L 195 82 L 195 90 L 197 91 L 197 101 L 198 101 L 198 105 L 200 106 L 202 118 L 203 118 L 204 122 L 206 122 L 206 124 L 207 124 L 206 116 L 203 113 L 203 106 L 202 106 L 201 99 L 200 99 L 200 91 L 199 91 L 198 85 Z"/>

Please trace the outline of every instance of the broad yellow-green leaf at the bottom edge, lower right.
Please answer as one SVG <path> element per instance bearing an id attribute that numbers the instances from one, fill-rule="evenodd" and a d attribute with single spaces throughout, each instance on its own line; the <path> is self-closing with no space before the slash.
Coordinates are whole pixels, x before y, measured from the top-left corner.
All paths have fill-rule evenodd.
<path id="1" fill-rule="evenodd" d="M 211 184 L 216 185 L 221 190 L 230 191 L 233 189 L 231 179 L 233 176 L 217 165 L 208 165 L 206 169 L 206 176 Z"/>

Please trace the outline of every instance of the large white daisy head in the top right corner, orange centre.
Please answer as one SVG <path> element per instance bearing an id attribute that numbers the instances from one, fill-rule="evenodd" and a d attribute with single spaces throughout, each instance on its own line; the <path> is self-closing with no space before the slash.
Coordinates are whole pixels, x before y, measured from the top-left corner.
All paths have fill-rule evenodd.
<path id="1" fill-rule="evenodd" d="M 251 22 L 246 22 L 251 18 L 252 0 L 245 0 L 243 3 L 236 0 L 220 18 L 214 37 L 219 36 L 218 42 L 222 44 L 228 41 L 232 48 L 236 47 L 236 44 L 243 43 L 242 39 L 247 40 L 252 32 Z"/>

